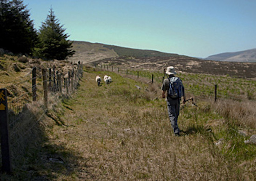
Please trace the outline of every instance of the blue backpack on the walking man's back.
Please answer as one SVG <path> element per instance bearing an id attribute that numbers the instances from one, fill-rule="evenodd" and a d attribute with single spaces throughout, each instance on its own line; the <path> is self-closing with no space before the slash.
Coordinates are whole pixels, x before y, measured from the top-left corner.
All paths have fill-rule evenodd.
<path id="1" fill-rule="evenodd" d="M 181 98 L 183 96 L 182 80 L 179 77 L 171 77 L 169 80 L 168 97 Z"/>

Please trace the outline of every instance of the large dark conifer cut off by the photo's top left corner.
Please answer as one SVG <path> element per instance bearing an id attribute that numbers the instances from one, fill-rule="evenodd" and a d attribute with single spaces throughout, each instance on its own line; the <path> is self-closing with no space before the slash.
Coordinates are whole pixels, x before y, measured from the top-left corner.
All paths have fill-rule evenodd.
<path id="1" fill-rule="evenodd" d="M 23 0 L 0 0 L 0 47 L 13 53 L 29 54 L 37 41 L 33 20 Z"/>

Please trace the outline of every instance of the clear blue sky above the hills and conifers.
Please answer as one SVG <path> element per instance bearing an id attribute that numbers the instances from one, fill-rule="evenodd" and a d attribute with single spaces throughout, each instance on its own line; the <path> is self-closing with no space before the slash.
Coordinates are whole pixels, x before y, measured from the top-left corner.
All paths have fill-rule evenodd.
<path id="1" fill-rule="evenodd" d="M 70 40 L 195 57 L 256 48 L 256 0 L 24 0 L 36 29 L 52 6 Z"/>

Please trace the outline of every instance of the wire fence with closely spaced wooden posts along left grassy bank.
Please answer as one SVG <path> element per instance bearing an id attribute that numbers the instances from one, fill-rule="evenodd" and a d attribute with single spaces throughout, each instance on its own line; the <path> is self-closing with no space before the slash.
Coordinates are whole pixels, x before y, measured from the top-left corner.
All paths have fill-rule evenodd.
<path id="1" fill-rule="evenodd" d="M 5 123 L 0 129 L 3 171 L 11 172 L 11 158 L 17 158 L 31 137 L 40 133 L 49 102 L 56 104 L 61 97 L 74 92 L 82 77 L 82 68 L 80 61 L 65 71 L 55 66 L 33 67 L 23 77 L 1 82 L 4 86 L 0 89 L 0 121 Z"/>

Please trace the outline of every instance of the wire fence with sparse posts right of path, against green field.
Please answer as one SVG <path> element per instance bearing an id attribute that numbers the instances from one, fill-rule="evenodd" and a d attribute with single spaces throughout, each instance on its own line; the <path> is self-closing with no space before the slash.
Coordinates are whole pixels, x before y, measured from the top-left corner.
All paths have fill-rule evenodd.
<path id="1" fill-rule="evenodd" d="M 137 76 L 137 78 L 145 77 L 145 78 L 148 78 L 150 80 L 149 82 L 151 83 L 153 82 L 162 83 L 164 78 L 166 78 L 163 72 L 161 73 L 160 71 L 137 70 L 136 68 L 128 69 L 126 67 L 116 67 L 116 66 L 109 66 L 109 65 L 94 65 L 94 66 L 101 69 L 108 70 L 108 71 L 113 71 L 118 74 L 126 75 L 126 76 L 133 75 L 133 76 Z M 204 79 L 207 79 L 207 78 L 204 77 Z M 241 94 L 232 93 L 234 92 L 234 90 L 232 90 L 232 92 L 231 90 L 230 92 L 228 92 L 227 90 L 223 90 L 223 88 L 220 86 L 225 84 L 225 82 L 222 83 L 221 80 L 218 80 L 218 83 L 213 83 L 213 81 L 206 81 L 206 80 L 197 79 L 197 78 L 193 79 L 193 77 L 188 78 L 185 75 L 185 76 L 182 76 L 182 81 L 185 85 L 186 92 L 195 96 L 195 98 L 198 98 L 198 99 L 212 98 L 215 101 L 218 99 L 222 99 L 222 100 L 228 99 L 228 100 L 234 100 L 234 101 L 248 100 L 248 101 L 256 102 L 256 89 L 255 89 L 256 87 L 253 88 L 253 85 L 256 84 L 256 81 L 252 85 L 250 85 L 250 82 L 243 83 L 244 87 L 247 87 L 247 90 L 241 91 L 242 92 Z M 243 80 L 241 80 L 241 82 L 243 82 Z M 227 85 L 225 86 L 225 88 L 230 89 L 230 86 Z M 240 88 L 236 88 L 235 91 L 239 93 Z"/>

